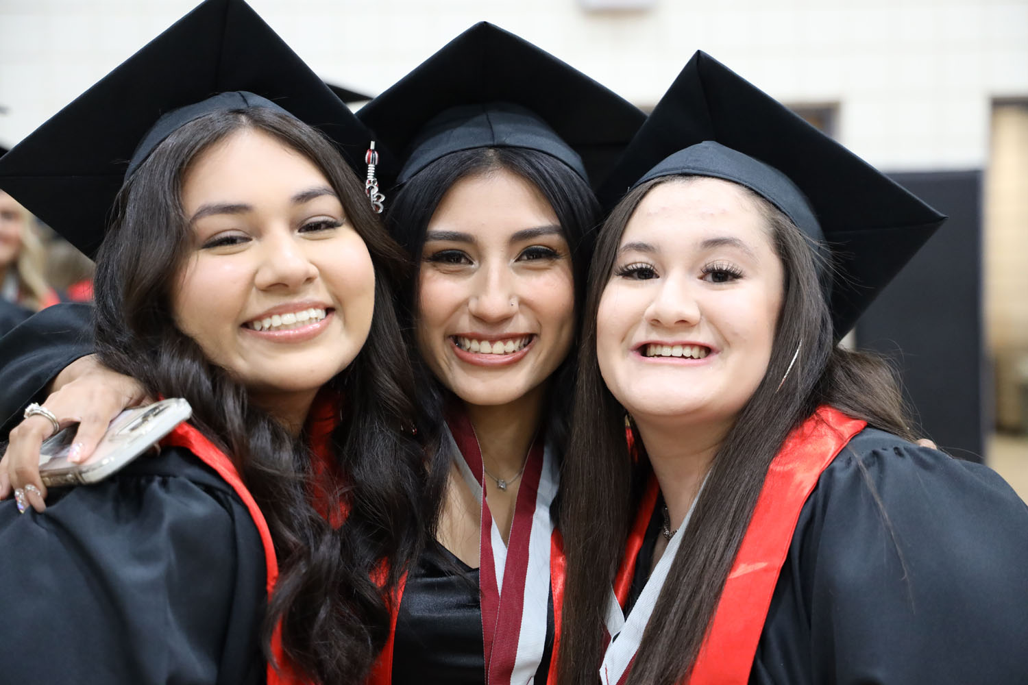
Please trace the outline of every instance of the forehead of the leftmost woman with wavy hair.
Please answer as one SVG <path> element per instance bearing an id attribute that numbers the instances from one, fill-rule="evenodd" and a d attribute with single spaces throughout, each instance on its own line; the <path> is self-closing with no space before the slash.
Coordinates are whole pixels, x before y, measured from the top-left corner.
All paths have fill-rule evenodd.
<path id="1" fill-rule="evenodd" d="M 313 161 L 286 143 L 258 129 L 230 134 L 197 155 L 183 177 L 182 201 L 260 197 L 329 185 Z"/>

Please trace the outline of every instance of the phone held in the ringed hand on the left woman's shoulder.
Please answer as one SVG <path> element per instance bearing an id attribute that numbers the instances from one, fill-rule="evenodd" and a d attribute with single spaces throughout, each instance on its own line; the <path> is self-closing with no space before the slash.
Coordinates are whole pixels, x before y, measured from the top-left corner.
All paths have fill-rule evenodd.
<path id="1" fill-rule="evenodd" d="M 111 421 L 96 451 L 80 464 L 67 458 L 77 428 L 70 426 L 43 442 L 39 475 L 47 488 L 97 483 L 146 452 L 191 415 L 192 408 L 181 397 L 121 412 Z"/>

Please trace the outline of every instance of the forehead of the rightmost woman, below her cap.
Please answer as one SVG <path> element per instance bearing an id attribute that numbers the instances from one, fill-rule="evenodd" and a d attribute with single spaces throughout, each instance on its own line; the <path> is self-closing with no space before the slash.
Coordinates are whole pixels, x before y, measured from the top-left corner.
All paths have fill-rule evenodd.
<path id="1" fill-rule="evenodd" d="M 709 237 L 736 237 L 770 245 L 760 203 L 737 184 L 699 178 L 655 186 L 632 213 L 622 244 L 640 239 L 693 243 Z"/>

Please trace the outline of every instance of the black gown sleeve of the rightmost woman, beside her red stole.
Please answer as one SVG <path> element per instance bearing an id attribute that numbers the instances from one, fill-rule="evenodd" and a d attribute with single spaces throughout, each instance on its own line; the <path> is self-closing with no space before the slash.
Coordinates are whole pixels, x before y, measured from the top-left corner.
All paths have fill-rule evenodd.
<path id="1" fill-rule="evenodd" d="M 1028 507 L 1001 478 L 866 429 L 821 474 L 751 683 L 1028 683 Z"/>

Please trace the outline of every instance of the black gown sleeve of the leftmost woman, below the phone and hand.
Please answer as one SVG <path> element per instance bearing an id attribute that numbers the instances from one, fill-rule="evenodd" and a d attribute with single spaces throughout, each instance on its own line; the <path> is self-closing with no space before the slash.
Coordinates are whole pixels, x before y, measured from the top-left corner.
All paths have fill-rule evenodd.
<path id="1" fill-rule="evenodd" d="M 261 683 L 264 554 L 227 485 L 181 450 L 0 502 L 0 680 Z"/>

